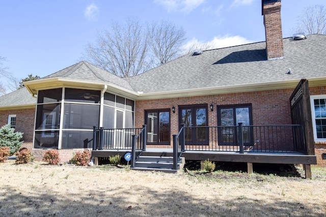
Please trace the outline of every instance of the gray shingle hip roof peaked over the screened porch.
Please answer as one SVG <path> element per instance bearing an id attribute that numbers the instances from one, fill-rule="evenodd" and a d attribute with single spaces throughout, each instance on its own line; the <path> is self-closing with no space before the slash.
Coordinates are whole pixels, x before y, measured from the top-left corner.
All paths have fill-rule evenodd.
<path id="1" fill-rule="evenodd" d="M 109 82 L 126 89 L 133 90 L 125 79 L 102 70 L 90 63 L 87 63 L 86 61 L 80 61 L 75 65 L 45 76 L 41 79 L 47 78 L 69 78 L 86 81 Z"/>

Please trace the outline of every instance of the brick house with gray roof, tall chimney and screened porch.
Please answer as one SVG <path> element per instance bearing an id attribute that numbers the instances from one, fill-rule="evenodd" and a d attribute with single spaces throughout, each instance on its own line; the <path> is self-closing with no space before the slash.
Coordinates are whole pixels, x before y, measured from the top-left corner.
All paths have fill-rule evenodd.
<path id="1" fill-rule="evenodd" d="M 148 148 L 172 148 L 183 130 L 186 159 L 297 163 L 306 173 L 310 164 L 326 166 L 326 36 L 283 39 L 280 0 L 263 0 L 262 15 L 265 42 L 186 54 L 129 78 L 81 61 L 25 82 L 0 97 L 0 124 L 14 123 L 38 158 L 48 148 L 59 149 L 63 161 L 94 148 L 93 126 L 110 140 L 100 149 L 125 152 L 146 125 Z M 299 98 L 306 101 L 295 108 Z M 230 154 L 239 151 L 256 155 Z"/>

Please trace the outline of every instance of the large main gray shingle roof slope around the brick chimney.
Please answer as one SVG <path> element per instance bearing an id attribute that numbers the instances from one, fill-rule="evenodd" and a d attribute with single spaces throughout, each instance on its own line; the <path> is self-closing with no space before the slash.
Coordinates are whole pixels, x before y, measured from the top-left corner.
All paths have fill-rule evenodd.
<path id="1" fill-rule="evenodd" d="M 187 54 L 126 80 L 134 90 L 149 93 L 326 76 L 325 35 L 284 39 L 283 59 L 266 60 L 265 47 L 259 42 Z"/>

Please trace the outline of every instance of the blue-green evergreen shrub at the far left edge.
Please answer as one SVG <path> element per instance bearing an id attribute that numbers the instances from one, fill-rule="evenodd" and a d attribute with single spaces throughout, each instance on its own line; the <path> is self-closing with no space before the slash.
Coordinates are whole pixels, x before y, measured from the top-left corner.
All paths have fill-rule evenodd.
<path id="1" fill-rule="evenodd" d="M 14 131 L 15 129 L 10 128 L 10 125 L 5 125 L 0 128 L 0 146 L 9 147 L 10 156 L 16 153 L 23 143 L 22 141 L 20 142 L 23 133 L 14 133 Z"/>

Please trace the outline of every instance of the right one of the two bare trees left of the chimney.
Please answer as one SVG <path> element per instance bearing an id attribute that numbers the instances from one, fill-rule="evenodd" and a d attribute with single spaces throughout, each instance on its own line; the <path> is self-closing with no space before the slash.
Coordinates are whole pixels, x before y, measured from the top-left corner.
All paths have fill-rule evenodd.
<path id="1" fill-rule="evenodd" d="M 173 23 L 162 20 L 148 26 L 149 48 L 151 51 L 152 67 L 160 66 L 182 54 L 185 30 Z"/>

